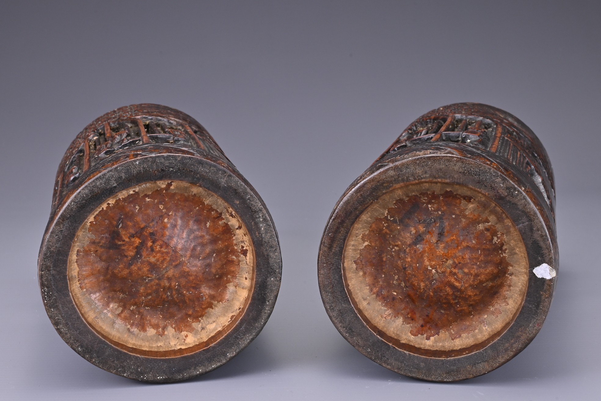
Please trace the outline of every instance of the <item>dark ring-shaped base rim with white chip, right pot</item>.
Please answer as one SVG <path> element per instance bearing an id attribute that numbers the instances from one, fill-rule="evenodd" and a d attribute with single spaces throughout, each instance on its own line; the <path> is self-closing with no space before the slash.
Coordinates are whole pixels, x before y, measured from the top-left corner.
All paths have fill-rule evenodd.
<path id="1" fill-rule="evenodd" d="M 549 262 L 557 269 L 557 255 L 549 242 L 543 219 L 522 189 L 487 165 L 458 155 L 445 155 L 442 149 L 439 152 L 430 150 L 430 155 L 392 158 L 385 167 L 374 165 L 349 187 L 352 189 L 338 201 L 323 233 L 318 262 L 319 286 L 330 319 L 362 354 L 402 375 L 429 381 L 459 381 L 496 369 L 534 339 L 551 304 L 555 279 L 537 278 L 531 270 Z M 466 147 L 462 150 L 469 152 Z M 457 183 L 480 190 L 516 222 L 528 252 L 528 289 L 516 319 L 488 346 L 461 357 L 423 357 L 387 343 L 361 319 L 344 286 L 344 244 L 356 218 L 372 200 L 390 189 L 419 180 Z"/>

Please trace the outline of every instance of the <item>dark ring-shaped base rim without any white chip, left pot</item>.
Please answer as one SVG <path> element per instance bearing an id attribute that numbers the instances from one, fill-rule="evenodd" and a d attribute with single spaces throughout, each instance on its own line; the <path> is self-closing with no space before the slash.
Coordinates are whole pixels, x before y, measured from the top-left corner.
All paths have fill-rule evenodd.
<path id="1" fill-rule="evenodd" d="M 85 323 L 67 283 L 70 246 L 84 219 L 111 195 L 138 183 L 156 180 L 182 180 L 218 194 L 248 228 L 256 258 L 251 300 L 236 326 L 212 346 L 180 357 L 142 357 L 112 346 Z M 206 159 L 162 153 L 125 161 L 85 182 L 47 227 L 38 269 L 47 314 L 58 334 L 79 355 L 108 372 L 127 378 L 173 382 L 216 369 L 257 337 L 278 295 L 281 254 L 269 212 L 248 182 Z"/>

